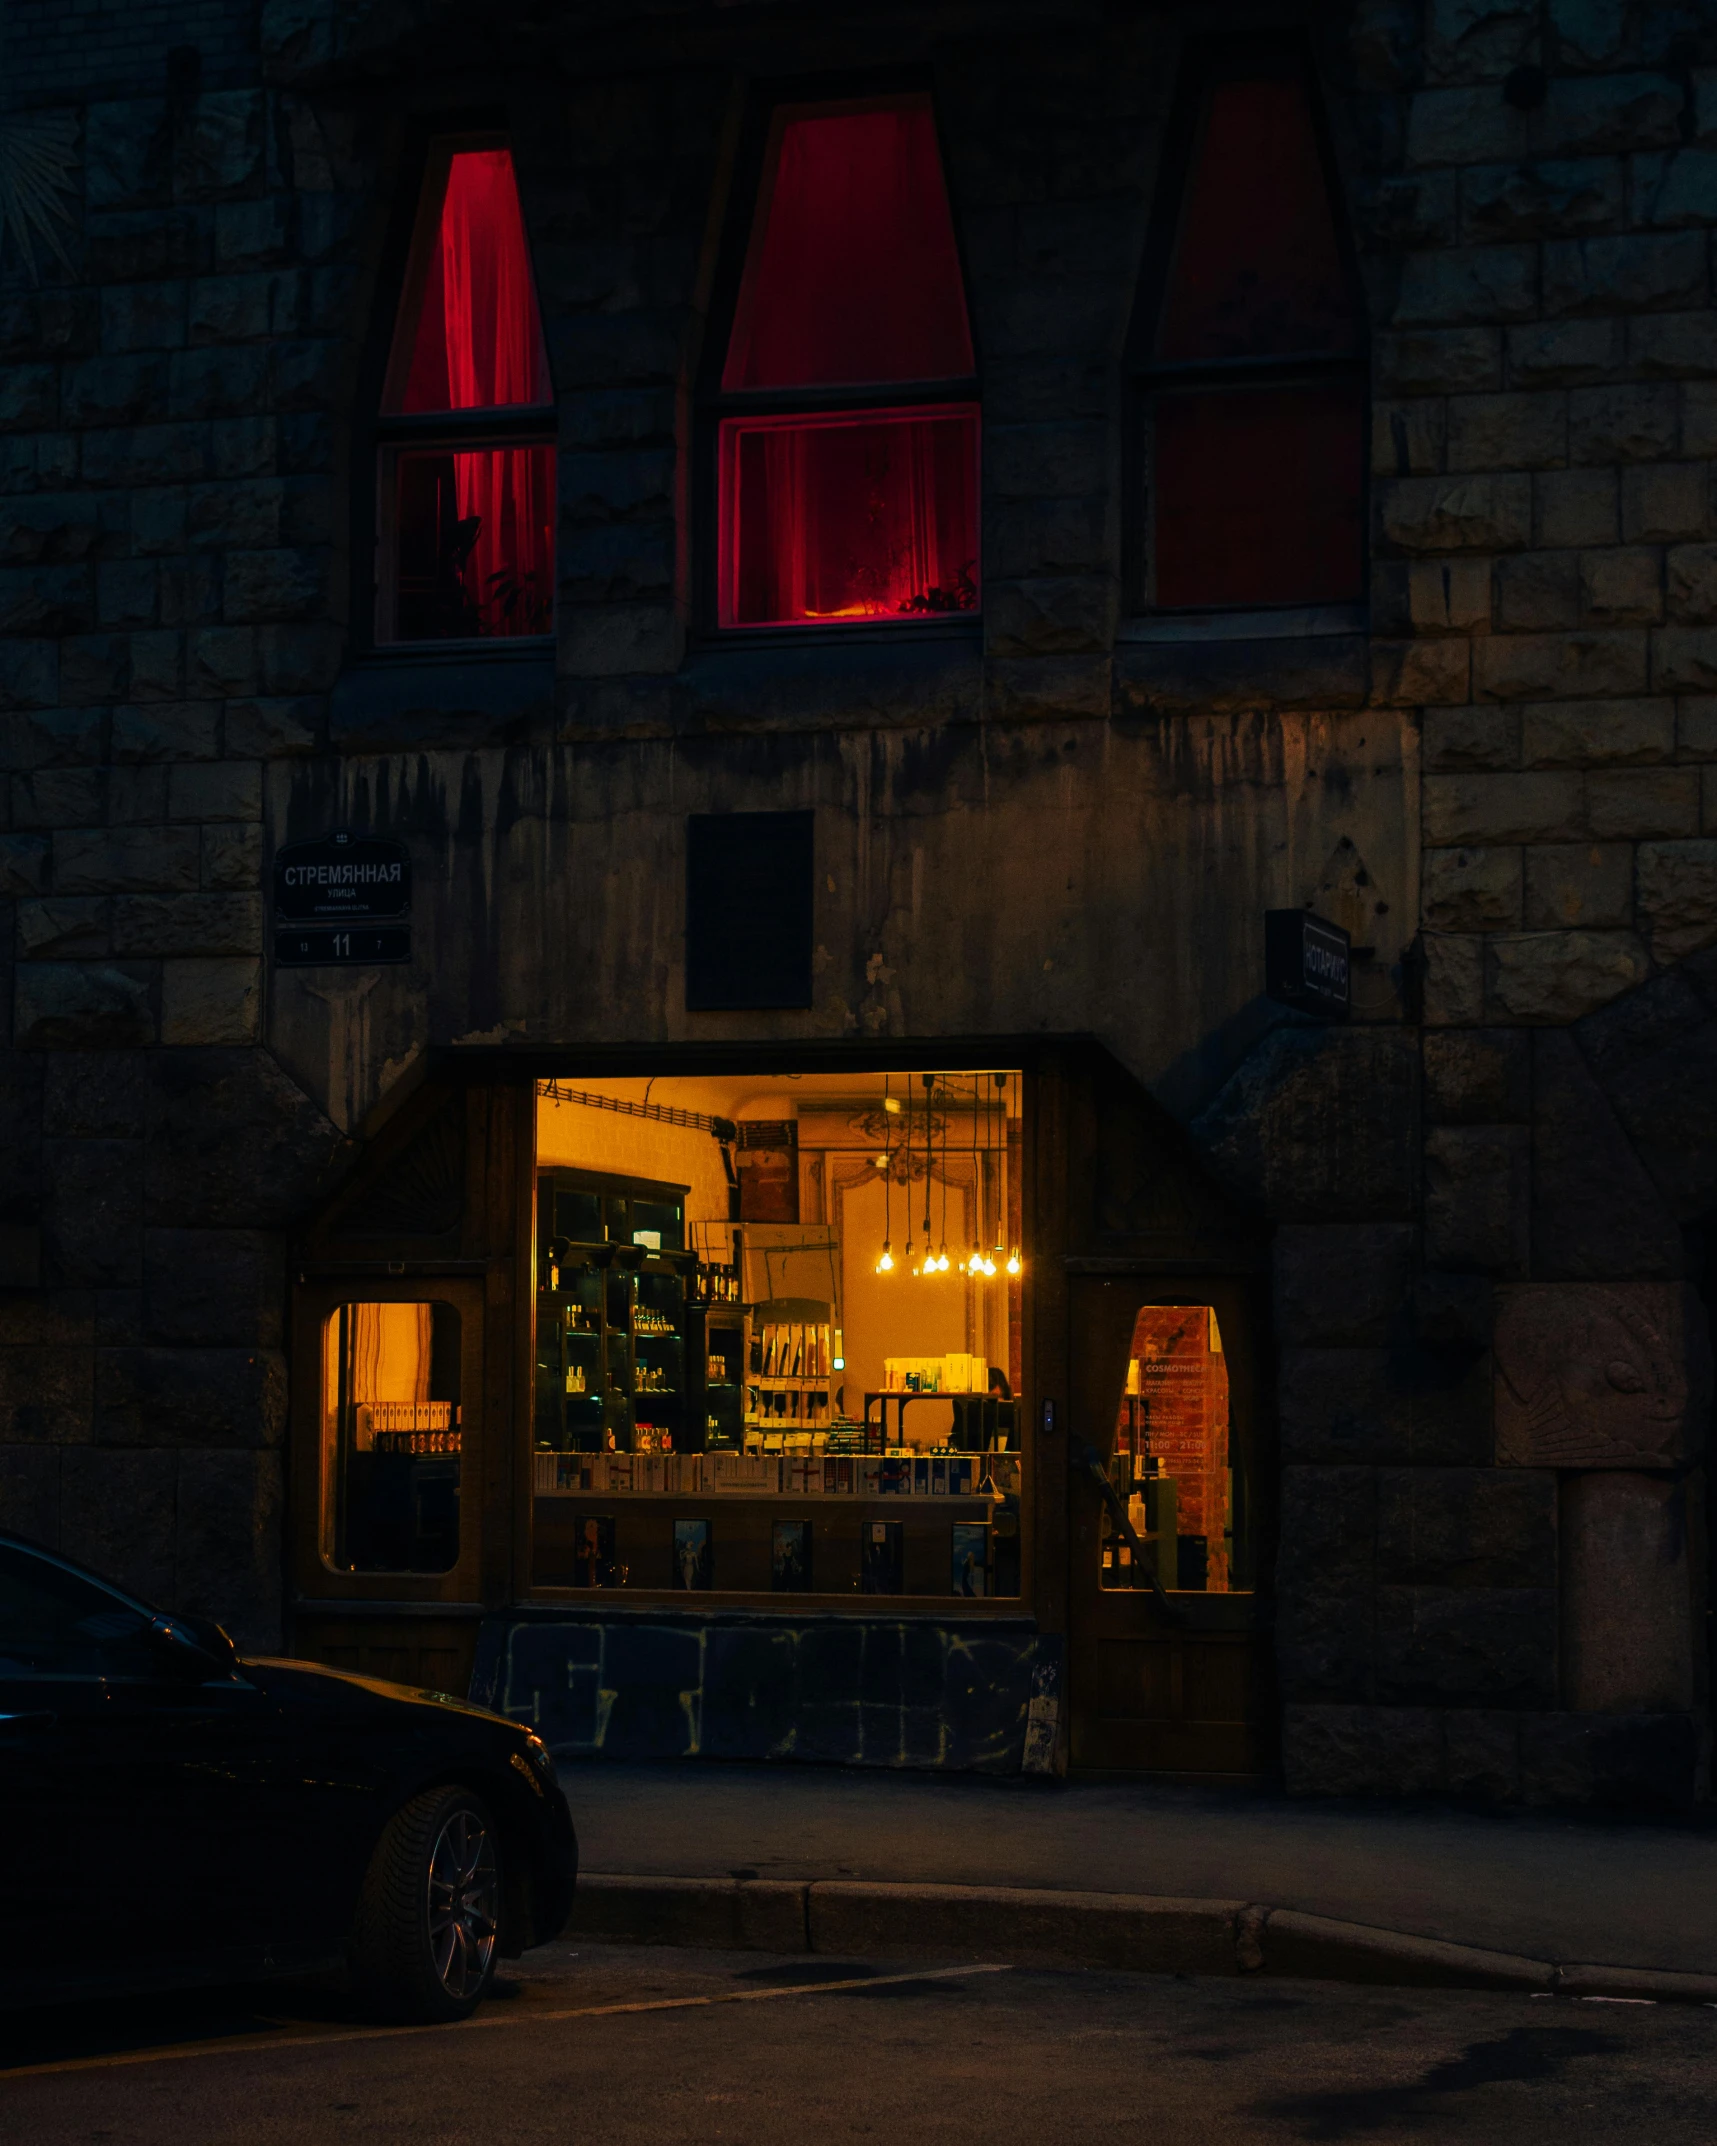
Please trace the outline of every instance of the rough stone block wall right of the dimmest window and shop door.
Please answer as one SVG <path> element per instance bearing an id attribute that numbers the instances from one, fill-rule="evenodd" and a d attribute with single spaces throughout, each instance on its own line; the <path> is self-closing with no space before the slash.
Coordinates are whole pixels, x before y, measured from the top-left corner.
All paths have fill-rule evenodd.
<path id="1" fill-rule="evenodd" d="M 1423 1142 L 1417 1243 L 1376 1202 L 1279 1238 L 1298 1788 L 1702 1779 L 1713 56 L 1687 11 L 1588 0 L 1432 0 L 1417 52 L 1369 47 L 1371 627 L 1423 702 Z"/>

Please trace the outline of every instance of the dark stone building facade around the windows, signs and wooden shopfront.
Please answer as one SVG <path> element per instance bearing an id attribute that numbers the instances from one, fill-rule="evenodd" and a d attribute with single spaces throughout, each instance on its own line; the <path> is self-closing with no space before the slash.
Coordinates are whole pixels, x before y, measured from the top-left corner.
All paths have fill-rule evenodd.
<path id="1" fill-rule="evenodd" d="M 58 185 L 0 264 L 6 1526 L 279 1640 L 292 1232 L 455 1060 L 1090 1034 L 1273 1230 L 1288 1785 L 1708 1792 L 1717 13 L 1219 15 L 11 0 L 0 127 Z M 1369 588 L 1163 620 L 1125 354 L 1217 32 L 1311 58 Z M 938 109 L 981 620 L 734 646 L 695 444 L 747 99 L 876 71 Z M 380 369 L 423 142 L 472 127 L 547 333 L 556 631 L 399 652 Z M 783 807 L 816 1002 L 691 1015 L 685 815 Z M 273 966 L 268 861 L 328 826 L 410 841 L 410 966 Z M 1346 1026 L 1260 996 L 1294 906 L 1365 951 Z"/>

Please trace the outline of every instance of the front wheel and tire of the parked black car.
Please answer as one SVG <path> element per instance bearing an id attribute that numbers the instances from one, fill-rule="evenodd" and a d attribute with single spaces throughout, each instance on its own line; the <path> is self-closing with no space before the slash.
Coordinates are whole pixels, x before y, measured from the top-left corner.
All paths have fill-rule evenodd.
<path id="1" fill-rule="evenodd" d="M 401 1805 L 369 1858 L 352 1923 L 352 1987 L 384 2019 L 466 2019 L 500 1959 L 500 1837 L 468 1788 Z"/>

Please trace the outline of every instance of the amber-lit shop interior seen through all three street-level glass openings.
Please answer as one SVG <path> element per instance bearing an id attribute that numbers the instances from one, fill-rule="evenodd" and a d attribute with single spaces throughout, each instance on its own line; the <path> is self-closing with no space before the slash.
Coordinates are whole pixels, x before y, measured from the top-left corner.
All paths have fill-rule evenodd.
<path id="1" fill-rule="evenodd" d="M 1017 1599 L 1019 1073 L 543 1082 L 532 1586 Z M 449 1573 L 453 1303 L 324 1331 L 322 1556 Z M 1208 1303 L 1138 1307 L 1099 1586 L 1234 1592 L 1245 1474 Z"/>

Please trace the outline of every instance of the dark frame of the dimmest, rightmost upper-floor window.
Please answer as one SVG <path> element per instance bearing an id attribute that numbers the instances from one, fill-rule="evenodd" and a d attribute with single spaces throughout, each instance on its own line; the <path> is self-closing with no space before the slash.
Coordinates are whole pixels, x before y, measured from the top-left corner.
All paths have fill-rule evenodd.
<path id="1" fill-rule="evenodd" d="M 1288 350 L 1243 358 L 1163 358 L 1157 354 L 1157 339 L 1174 273 L 1176 240 L 1195 176 L 1206 99 L 1223 82 L 1262 79 L 1292 79 L 1305 88 L 1311 133 L 1318 144 L 1318 163 L 1324 174 L 1335 225 L 1335 251 L 1352 307 L 1352 348 L 1346 352 Z M 1331 601 L 1288 599 L 1281 603 L 1157 603 L 1155 406 L 1159 395 L 1223 386 L 1311 388 L 1354 384 L 1361 401 L 1361 504 L 1369 485 L 1371 320 L 1322 86 L 1305 45 L 1292 36 L 1247 41 L 1243 52 L 1236 52 L 1230 39 L 1206 39 L 1189 45 L 1180 64 L 1170 124 L 1163 133 L 1159 174 L 1165 182 L 1157 187 L 1144 260 L 1140 264 L 1133 320 L 1122 354 L 1122 622 L 1185 620 L 1191 627 L 1206 618 L 1221 620 L 1258 614 L 1260 620 L 1268 620 L 1273 616 L 1290 618 L 1331 609 L 1363 609 L 1371 571 L 1371 528 L 1369 513 L 1365 511 L 1361 511 L 1359 588 L 1354 597 Z M 1262 631 L 1268 631 L 1268 627 L 1264 624 Z"/>

